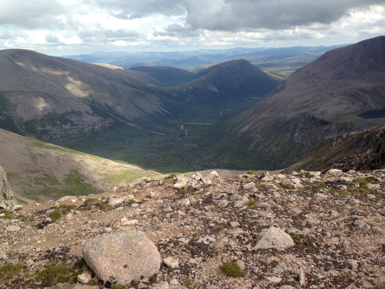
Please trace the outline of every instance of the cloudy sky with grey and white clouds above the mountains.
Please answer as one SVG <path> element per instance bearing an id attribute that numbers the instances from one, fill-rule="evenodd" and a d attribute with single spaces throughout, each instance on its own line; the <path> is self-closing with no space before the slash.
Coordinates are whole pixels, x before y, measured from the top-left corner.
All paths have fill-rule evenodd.
<path id="1" fill-rule="evenodd" d="M 0 0 L 0 49 L 53 56 L 331 46 L 385 34 L 385 0 Z"/>

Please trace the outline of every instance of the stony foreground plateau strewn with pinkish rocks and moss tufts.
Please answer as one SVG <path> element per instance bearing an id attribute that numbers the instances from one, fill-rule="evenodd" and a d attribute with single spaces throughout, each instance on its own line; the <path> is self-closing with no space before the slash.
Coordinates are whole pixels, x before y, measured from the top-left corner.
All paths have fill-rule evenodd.
<path id="1" fill-rule="evenodd" d="M 385 170 L 197 173 L 0 205 L 0 288 L 385 288 Z M 145 242 L 116 249 L 128 236 Z"/>

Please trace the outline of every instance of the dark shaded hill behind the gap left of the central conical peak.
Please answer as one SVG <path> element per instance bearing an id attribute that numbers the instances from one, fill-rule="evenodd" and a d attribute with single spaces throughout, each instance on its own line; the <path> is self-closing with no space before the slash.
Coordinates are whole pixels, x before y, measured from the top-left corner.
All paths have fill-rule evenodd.
<path id="1" fill-rule="evenodd" d="M 130 70 L 141 71 L 148 74 L 165 86 L 183 84 L 195 76 L 194 73 L 170 66 L 135 66 L 130 67 Z"/>

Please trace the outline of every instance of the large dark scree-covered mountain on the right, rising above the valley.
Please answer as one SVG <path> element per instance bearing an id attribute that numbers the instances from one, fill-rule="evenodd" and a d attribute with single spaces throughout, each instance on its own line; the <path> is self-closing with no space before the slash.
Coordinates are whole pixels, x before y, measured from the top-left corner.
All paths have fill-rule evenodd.
<path id="1" fill-rule="evenodd" d="M 385 122 L 385 37 L 326 52 L 228 122 L 256 163 L 284 168 L 328 137 Z M 228 139 L 226 141 L 228 141 Z"/>

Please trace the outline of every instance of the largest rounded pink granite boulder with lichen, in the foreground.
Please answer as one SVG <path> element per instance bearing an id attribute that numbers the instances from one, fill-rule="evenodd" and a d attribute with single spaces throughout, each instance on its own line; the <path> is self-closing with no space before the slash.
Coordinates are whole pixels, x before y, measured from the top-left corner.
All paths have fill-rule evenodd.
<path id="1" fill-rule="evenodd" d="M 162 263 L 157 247 L 141 231 L 95 237 L 82 246 L 82 253 L 99 279 L 121 285 L 157 274 Z"/>

